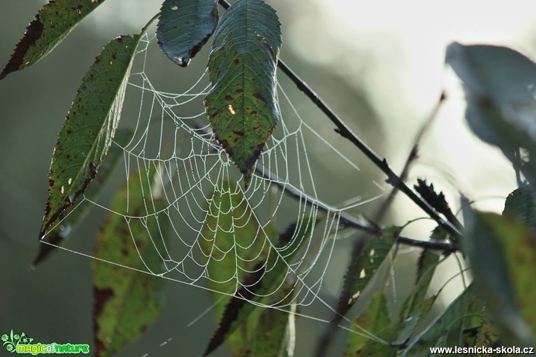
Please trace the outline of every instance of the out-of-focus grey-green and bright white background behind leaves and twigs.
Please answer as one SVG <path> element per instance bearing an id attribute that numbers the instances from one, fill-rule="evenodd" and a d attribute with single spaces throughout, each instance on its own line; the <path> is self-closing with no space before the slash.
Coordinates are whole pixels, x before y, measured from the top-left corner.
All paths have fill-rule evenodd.
<path id="1" fill-rule="evenodd" d="M 2 65 L 44 3 L 2 2 Z M 480 0 L 442 4 L 419 0 L 274 0 L 270 3 L 278 10 L 282 22 L 281 58 L 398 171 L 416 131 L 445 86 L 449 99 L 423 141 L 410 182 L 416 177 L 428 177 L 445 192 L 455 209 L 458 209 L 457 192 L 460 190 L 472 198 L 486 198 L 479 201 L 477 207 L 502 211 L 504 196 L 516 185 L 513 170 L 497 149 L 468 132 L 463 121 L 463 93 L 451 73 L 444 71 L 444 51 L 450 41 L 457 40 L 510 45 L 535 58 L 536 3 L 513 1 L 505 5 Z M 28 266 L 38 249 L 50 156 L 81 78 L 103 44 L 117 35 L 139 32 L 158 12 L 160 4 L 160 0 L 107 1 L 40 63 L 0 82 L 3 133 L 0 140 L 3 153 L 0 157 L 3 276 L 0 333 L 13 329 L 24 331 L 41 343 L 93 344 L 88 259 L 60 252 L 35 271 L 29 271 Z M 207 50 L 205 48 L 192 61 L 190 70 L 184 71 L 152 48 L 153 65 L 147 68 L 147 73 L 158 83 L 159 89 L 181 92 L 204 70 Z M 331 204 L 344 206 L 343 202 L 348 199 L 367 198 L 377 192 L 374 181 L 382 184 L 381 174 L 349 142 L 333 132 L 333 125 L 294 89 L 292 83 L 282 75 L 278 79 L 284 88 L 289 88 L 289 95 L 302 118 L 361 168 L 356 172 L 341 160 L 331 160 L 325 147 L 311 142 L 309 157 L 317 171 L 323 172 L 317 181 L 321 197 Z M 125 115 L 136 113 L 135 107 L 130 110 L 126 109 Z M 109 198 L 111 193 L 113 187 L 103 197 Z M 503 199 L 493 200 L 494 196 Z M 377 202 L 360 209 L 370 214 Z M 94 210 L 71 235 L 67 247 L 91 252 L 103 213 Z M 403 224 L 422 215 L 399 195 L 386 220 Z M 405 234 L 426 238 L 431 227 L 431 223 L 415 224 Z M 337 299 L 348 246 L 349 240 L 342 241 L 334 251 L 338 259 L 332 260 L 322 296 L 327 302 L 334 303 Z M 403 282 L 414 275 L 416 250 L 405 249 L 401 253 L 407 254 L 399 254 L 394 282 Z M 451 270 L 442 270 L 443 280 L 457 271 L 457 265 L 451 265 Z M 440 280 L 436 286 L 442 283 Z M 398 284 L 396 290 L 393 287 L 395 291 L 400 295 L 406 293 L 404 284 Z M 442 295 L 443 302 L 450 301 L 459 291 L 453 285 Z M 199 354 L 214 329 L 212 315 L 201 318 L 191 327 L 187 324 L 210 305 L 211 300 L 203 290 L 168 284 L 160 318 L 120 355 L 172 356 L 177 351 L 181 351 L 181 355 Z M 331 317 L 329 311 L 319 307 L 303 313 Z M 300 318 L 296 355 L 310 355 L 315 348 L 315 344 L 310 343 L 314 340 L 311 336 L 325 327 L 326 323 Z M 214 355 L 225 356 L 227 351 L 222 348 Z"/>

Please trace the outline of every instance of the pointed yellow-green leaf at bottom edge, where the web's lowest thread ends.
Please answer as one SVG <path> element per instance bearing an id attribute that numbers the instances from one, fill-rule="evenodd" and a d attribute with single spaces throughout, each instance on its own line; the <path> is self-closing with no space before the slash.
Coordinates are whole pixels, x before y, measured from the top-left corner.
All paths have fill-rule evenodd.
<path id="1" fill-rule="evenodd" d="M 377 292 L 367 303 L 367 307 L 350 326 L 353 332 L 348 335 L 344 356 L 395 356 L 396 348 L 372 339 L 369 333 L 391 341 L 396 326 L 391 325 L 389 310 L 383 291 Z M 369 333 L 366 333 L 367 331 Z"/>

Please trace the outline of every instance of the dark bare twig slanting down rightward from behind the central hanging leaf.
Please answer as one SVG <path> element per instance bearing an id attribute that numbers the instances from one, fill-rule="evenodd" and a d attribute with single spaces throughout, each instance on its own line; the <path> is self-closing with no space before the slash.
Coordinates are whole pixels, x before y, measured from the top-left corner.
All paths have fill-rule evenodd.
<path id="1" fill-rule="evenodd" d="M 224 9 L 228 9 L 230 4 L 227 0 L 218 0 L 218 3 L 224 7 Z M 279 59 L 277 66 L 283 73 L 287 75 L 289 79 L 291 79 L 295 85 L 318 107 L 318 109 L 322 110 L 324 114 L 332 121 L 333 124 L 337 126 L 336 132 L 339 133 L 343 138 L 348 139 L 351 141 L 356 147 L 358 147 L 361 152 L 367 156 L 370 161 L 372 161 L 380 170 L 382 170 L 386 176 L 387 180 L 386 182 L 391 184 L 393 187 L 396 187 L 401 192 L 403 192 L 408 198 L 410 198 L 417 206 L 419 206 L 423 211 L 426 212 L 427 215 L 429 215 L 434 221 L 437 222 L 440 226 L 442 226 L 447 232 L 449 232 L 452 236 L 459 238 L 461 236 L 461 233 L 458 231 L 458 229 L 452 225 L 450 222 L 443 219 L 440 214 L 425 200 L 420 198 L 410 187 L 408 187 L 403 180 L 400 179 L 400 177 L 394 173 L 393 170 L 391 170 L 389 164 L 387 163 L 387 160 L 381 159 L 373 149 L 371 149 L 366 143 L 364 143 L 357 134 L 355 134 L 345 123 L 343 120 L 339 118 L 339 116 L 331 110 L 327 104 L 316 94 L 310 87 L 307 85 L 305 81 L 303 81 L 294 71 L 290 69 L 290 67 L 281 59 Z"/>

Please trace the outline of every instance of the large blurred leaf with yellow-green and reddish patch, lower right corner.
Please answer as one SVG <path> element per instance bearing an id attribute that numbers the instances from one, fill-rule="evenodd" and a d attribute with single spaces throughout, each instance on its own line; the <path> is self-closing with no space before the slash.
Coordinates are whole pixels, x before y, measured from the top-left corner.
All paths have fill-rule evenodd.
<path id="1" fill-rule="evenodd" d="M 466 222 L 462 248 L 493 320 L 506 332 L 506 338 L 534 345 L 534 234 L 517 219 L 473 211 L 466 199 L 462 209 Z"/>

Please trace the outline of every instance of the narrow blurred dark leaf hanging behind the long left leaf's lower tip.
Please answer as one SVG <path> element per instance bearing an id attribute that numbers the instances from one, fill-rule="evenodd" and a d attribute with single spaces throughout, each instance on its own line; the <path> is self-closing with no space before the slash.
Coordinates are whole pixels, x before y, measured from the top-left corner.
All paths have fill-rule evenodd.
<path id="1" fill-rule="evenodd" d="M 117 130 L 114 141 L 124 146 L 128 140 L 132 137 L 132 132 L 129 130 Z M 106 185 L 111 174 L 114 172 L 120 159 L 123 157 L 123 150 L 120 146 L 111 145 L 108 152 L 108 159 L 102 162 L 102 165 L 97 173 L 95 179 L 87 186 L 84 195 L 91 198 L 93 201 L 99 197 L 102 188 Z M 91 210 L 93 205 L 87 201 L 80 202 L 74 207 L 69 207 L 65 210 L 61 223 L 55 226 L 51 231 L 44 236 L 41 241 L 48 242 L 49 244 L 40 244 L 38 256 L 35 257 L 32 267 L 46 259 L 51 252 L 57 250 L 55 246 L 62 245 L 73 230 L 76 229 L 78 224 L 84 220 L 87 213 Z"/>

